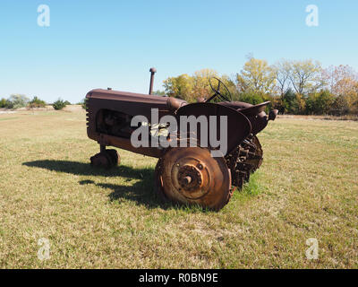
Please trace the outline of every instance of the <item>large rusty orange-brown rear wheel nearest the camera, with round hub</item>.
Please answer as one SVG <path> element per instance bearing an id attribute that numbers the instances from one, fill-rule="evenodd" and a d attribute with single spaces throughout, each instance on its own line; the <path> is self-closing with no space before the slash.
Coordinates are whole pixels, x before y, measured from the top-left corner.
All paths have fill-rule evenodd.
<path id="1" fill-rule="evenodd" d="M 230 200 L 231 172 L 224 158 L 200 147 L 168 150 L 159 159 L 156 186 L 161 197 L 178 204 L 199 204 L 220 210 Z"/>

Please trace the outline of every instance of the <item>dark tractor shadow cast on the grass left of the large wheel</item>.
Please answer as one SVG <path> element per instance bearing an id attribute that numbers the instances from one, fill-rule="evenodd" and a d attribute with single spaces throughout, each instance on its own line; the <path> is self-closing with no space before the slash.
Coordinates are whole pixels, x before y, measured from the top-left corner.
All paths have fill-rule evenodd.
<path id="1" fill-rule="evenodd" d="M 120 165 L 111 170 L 104 170 L 92 168 L 90 163 L 83 163 L 77 161 L 29 161 L 23 162 L 22 165 L 51 170 L 56 172 L 64 172 L 79 176 L 94 176 L 94 177 L 121 177 L 131 179 L 140 179 L 131 186 L 122 186 L 107 183 L 96 183 L 91 179 L 81 180 L 79 184 L 96 185 L 98 187 L 112 190 L 108 195 L 109 200 L 121 201 L 131 200 L 137 204 L 152 208 L 175 208 L 175 205 L 164 202 L 157 194 L 154 188 L 154 170 L 153 169 L 133 169 L 132 167 Z"/>

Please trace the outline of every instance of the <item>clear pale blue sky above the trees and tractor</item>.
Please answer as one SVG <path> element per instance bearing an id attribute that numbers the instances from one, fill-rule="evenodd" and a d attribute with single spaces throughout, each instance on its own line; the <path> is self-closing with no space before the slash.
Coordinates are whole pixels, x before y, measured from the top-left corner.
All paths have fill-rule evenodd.
<path id="1" fill-rule="evenodd" d="M 50 27 L 38 26 L 39 4 Z M 308 4 L 318 27 L 305 23 Z M 0 39 L 0 98 L 77 102 L 93 88 L 148 93 L 151 66 L 156 90 L 202 68 L 233 75 L 249 53 L 358 70 L 358 1 L 2 0 Z"/>

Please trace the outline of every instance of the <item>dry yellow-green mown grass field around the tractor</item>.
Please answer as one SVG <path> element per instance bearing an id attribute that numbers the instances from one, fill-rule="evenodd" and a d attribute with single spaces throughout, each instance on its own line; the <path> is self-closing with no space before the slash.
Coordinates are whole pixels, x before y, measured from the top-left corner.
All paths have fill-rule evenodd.
<path id="1" fill-rule="evenodd" d="M 0 267 L 358 268 L 358 122 L 270 122 L 263 165 L 219 213 L 161 204 L 156 159 L 119 150 L 92 170 L 85 126 L 84 111 L 0 115 Z"/>

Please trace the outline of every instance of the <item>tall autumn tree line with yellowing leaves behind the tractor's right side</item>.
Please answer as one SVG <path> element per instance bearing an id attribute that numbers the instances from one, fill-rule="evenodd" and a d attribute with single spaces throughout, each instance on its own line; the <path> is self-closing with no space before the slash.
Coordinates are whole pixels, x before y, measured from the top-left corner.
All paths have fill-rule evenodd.
<path id="1" fill-rule="evenodd" d="M 358 75 L 349 65 L 328 66 L 308 60 L 282 59 L 268 65 L 263 59 L 248 57 L 234 76 L 218 75 L 210 69 L 192 75 L 181 74 L 164 81 L 169 97 L 195 102 L 212 94 L 209 78 L 226 84 L 233 100 L 258 104 L 271 101 L 281 114 L 358 115 Z"/>

